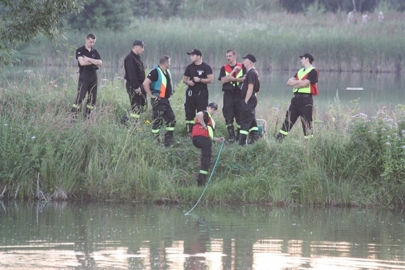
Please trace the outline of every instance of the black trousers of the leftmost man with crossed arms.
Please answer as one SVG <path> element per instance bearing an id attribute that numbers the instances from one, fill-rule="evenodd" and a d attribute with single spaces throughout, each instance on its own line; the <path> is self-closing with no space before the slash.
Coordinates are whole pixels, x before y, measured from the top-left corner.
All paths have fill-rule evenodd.
<path id="1" fill-rule="evenodd" d="M 97 100 L 97 72 L 96 70 L 83 70 L 79 72 L 79 80 L 77 84 L 77 95 L 75 104 L 82 104 L 86 98 L 87 104 L 94 106 Z"/>

